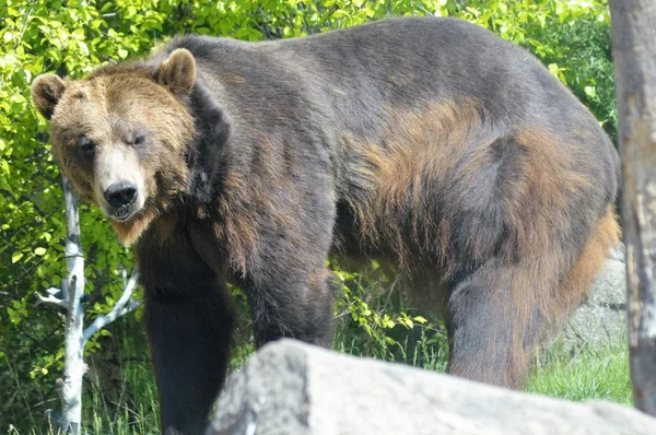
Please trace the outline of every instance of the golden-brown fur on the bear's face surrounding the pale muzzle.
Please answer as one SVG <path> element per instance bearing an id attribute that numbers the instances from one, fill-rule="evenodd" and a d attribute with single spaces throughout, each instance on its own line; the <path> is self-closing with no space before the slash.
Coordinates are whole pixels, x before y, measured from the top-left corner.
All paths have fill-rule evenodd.
<path id="1" fill-rule="evenodd" d="M 143 106 L 143 101 L 149 105 Z M 150 150 L 149 157 L 139 157 L 138 163 L 147 180 L 144 209 L 128 222 L 113 222 L 119 239 L 128 246 L 186 188 L 185 153 L 195 134 L 191 117 L 152 80 L 120 70 L 108 75 L 96 72 L 90 79 L 72 82 L 52 117 L 54 153 L 80 195 L 96 204 L 94 169 L 78 156 L 79 138 L 86 134 L 96 144 L 96 153 L 102 153 L 117 144 L 128 146 L 132 129 L 148 130 Z"/>

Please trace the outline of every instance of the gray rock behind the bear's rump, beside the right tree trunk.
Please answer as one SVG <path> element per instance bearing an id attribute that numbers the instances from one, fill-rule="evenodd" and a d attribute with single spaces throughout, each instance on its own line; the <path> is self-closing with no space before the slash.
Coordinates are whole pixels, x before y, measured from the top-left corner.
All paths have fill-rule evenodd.
<path id="1" fill-rule="evenodd" d="M 555 342 L 570 350 L 622 343 L 626 337 L 625 275 L 623 262 L 607 260 L 588 297 L 574 310 Z"/>

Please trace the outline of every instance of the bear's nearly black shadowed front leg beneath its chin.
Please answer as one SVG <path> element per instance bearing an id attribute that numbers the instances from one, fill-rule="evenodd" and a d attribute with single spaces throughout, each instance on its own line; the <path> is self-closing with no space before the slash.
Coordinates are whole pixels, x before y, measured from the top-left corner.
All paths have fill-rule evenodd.
<path id="1" fill-rule="evenodd" d="M 162 433 L 196 435 L 225 381 L 236 316 L 224 277 L 199 256 L 187 225 L 171 227 L 157 222 L 136 254 Z"/>

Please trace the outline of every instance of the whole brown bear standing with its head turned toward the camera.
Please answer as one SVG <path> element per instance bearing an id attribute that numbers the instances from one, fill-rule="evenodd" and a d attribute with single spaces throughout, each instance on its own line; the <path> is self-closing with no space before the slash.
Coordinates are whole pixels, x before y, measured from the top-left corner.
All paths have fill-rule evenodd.
<path id="1" fill-rule="evenodd" d="M 32 92 L 62 172 L 136 248 L 167 434 L 200 433 L 224 381 L 226 282 L 258 344 L 330 345 L 326 258 L 395 262 L 444 313 L 449 372 L 517 387 L 619 239 L 595 117 L 464 21 L 184 36 Z"/>

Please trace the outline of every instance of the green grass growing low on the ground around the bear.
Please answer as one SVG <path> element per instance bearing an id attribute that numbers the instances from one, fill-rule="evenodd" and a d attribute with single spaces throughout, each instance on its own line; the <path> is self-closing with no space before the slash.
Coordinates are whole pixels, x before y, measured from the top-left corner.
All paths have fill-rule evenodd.
<path id="1" fill-rule="evenodd" d="M 409 345 L 405 340 L 402 351 L 391 349 L 389 355 L 399 355 L 397 361 L 442 372 L 446 365 L 444 348 L 435 345 L 430 337 L 421 333 L 419 341 Z M 348 343 L 338 345 L 338 351 L 353 353 L 356 349 Z M 233 367 L 246 361 L 248 350 L 236 355 Z M 604 350 L 583 348 L 574 355 L 562 349 L 549 351 L 542 364 L 534 364 L 526 391 L 573 401 L 608 400 L 626 405 L 632 404 L 631 381 L 626 343 Z M 132 403 L 114 403 L 107 408 L 99 395 L 91 393 L 85 399 L 85 418 L 82 433 L 110 435 L 150 435 L 159 434 L 157 400 L 154 380 L 145 364 L 133 364 L 126 372 L 126 380 L 133 391 Z M 37 419 L 38 421 L 38 419 Z M 28 432 L 19 433 L 11 428 L 8 434 L 55 435 L 47 425 Z"/>

